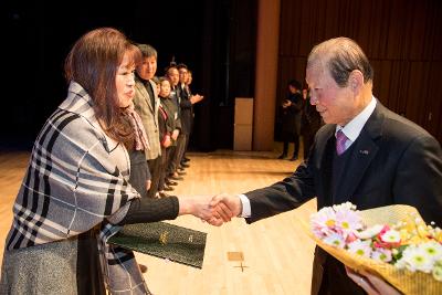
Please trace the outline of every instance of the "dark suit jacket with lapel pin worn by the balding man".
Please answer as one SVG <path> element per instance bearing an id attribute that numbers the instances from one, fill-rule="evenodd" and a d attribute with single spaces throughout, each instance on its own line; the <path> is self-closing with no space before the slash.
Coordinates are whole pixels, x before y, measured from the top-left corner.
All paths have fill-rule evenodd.
<path id="1" fill-rule="evenodd" d="M 335 125 L 325 125 L 318 130 L 307 162 L 291 177 L 246 193 L 252 209 L 248 223 L 292 210 L 317 197 L 318 209 L 345 201 L 357 204 L 359 210 L 410 204 L 427 222 L 442 225 L 442 151 L 431 135 L 378 102 L 352 144 L 348 167 L 332 200 L 335 128 Z M 317 249 L 312 294 L 319 293 L 323 277 L 333 268 L 326 267 L 327 261 L 332 261 L 330 256 Z M 341 264 L 339 267 L 344 270 Z M 334 277 L 335 285 L 349 286 L 339 294 L 352 293 L 350 288 L 356 284 L 350 278 L 345 275 Z M 335 293 L 332 291 L 332 294 Z"/>

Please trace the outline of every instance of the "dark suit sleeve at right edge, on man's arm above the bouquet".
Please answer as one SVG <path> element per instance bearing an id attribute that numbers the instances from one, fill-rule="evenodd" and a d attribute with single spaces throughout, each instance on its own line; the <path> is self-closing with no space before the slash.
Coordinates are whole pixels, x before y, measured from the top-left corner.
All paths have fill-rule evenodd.
<path id="1" fill-rule="evenodd" d="M 399 161 L 396 203 L 413 206 L 427 223 L 442 226 L 442 151 L 431 136 L 414 138 Z"/>

